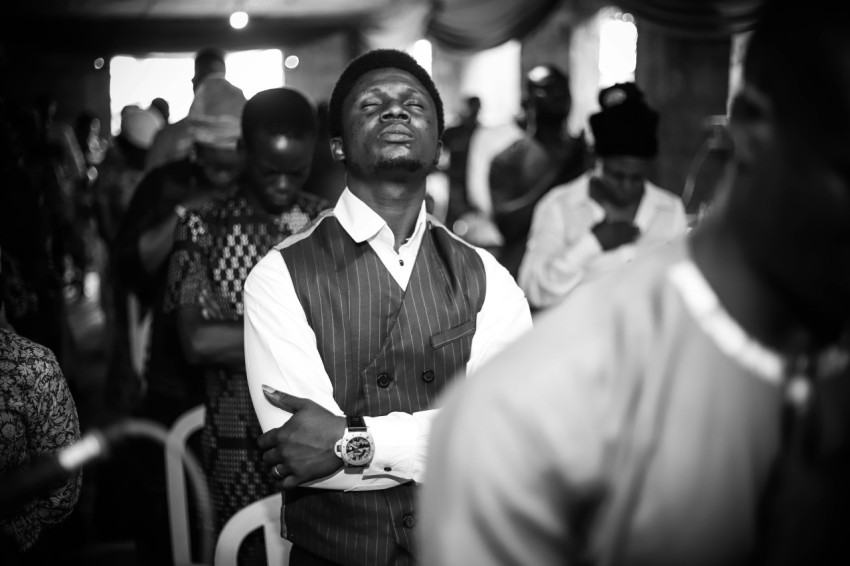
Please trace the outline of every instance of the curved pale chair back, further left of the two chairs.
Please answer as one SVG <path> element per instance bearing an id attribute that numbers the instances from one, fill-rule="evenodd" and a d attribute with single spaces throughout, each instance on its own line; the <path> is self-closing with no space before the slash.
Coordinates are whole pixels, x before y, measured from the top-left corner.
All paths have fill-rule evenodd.
<path id="1" fill-rule="evenodd" d="M 203 566 L 192 562 L 189 540 L 189 499 L 186 495 L 186 475 L 183 453 L 192 433 L 204 426 L 205 409 L 198 405 L 183 413 L 171 426 L 165 443 L 165 480 L 168 489 L 168 518 L 171 523 L 171 552 L 174 566 Z"/>

